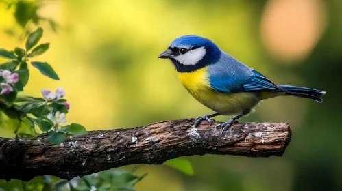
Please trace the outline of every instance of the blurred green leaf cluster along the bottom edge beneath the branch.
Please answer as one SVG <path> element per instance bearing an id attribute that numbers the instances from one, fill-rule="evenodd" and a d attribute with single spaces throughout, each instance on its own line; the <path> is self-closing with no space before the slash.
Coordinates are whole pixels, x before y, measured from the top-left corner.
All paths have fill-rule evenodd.
<path id="1" fill-rule="evenodd" d="M 108 170 L 71 181 L 53 176 L 35 177 L 29 182 L 12 179 L 10 182 L 0 180 L 0 190 L 32 190 L 32 191 L 135 191 L 134 186 L 147 174 L 134 175 L 123 170 Z"/>

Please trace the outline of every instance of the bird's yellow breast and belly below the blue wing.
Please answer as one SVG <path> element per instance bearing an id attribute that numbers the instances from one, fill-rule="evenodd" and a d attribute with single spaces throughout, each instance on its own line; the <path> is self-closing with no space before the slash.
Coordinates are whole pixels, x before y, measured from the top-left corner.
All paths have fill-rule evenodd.
<path id="1" fill-rule="evenodd" d="M 243 111 L 252 109 L 260 101 L 256 93 L 215 91 L 210 87 L 205 71 L 178 73 L 178 77 L 193 98 L 222 115 L 239 115 Z"/>

